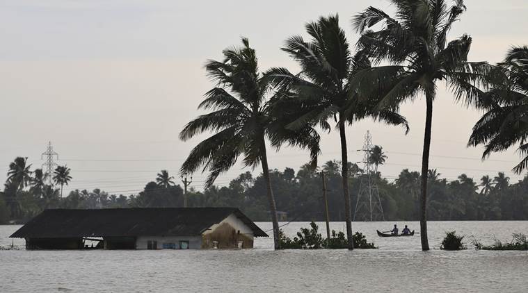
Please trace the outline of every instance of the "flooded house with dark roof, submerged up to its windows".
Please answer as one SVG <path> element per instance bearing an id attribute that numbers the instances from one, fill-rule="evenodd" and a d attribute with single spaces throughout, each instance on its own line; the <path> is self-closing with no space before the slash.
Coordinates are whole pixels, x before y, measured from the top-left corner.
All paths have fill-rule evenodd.
<path id="1" fill-rule="evenodd" d="M 253 248 L 268 237 L 238 208 L 45 210 L 19 228 L 26 249 Z"/>

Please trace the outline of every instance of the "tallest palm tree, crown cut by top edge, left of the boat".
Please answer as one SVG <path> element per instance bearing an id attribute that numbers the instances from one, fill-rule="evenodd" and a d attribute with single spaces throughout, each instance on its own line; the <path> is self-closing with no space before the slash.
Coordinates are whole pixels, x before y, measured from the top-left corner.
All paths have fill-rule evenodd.
<path id="1" fill-rule="evenodd" d="M 376 64 L 390 65 L 365 69 L 356 75 L 362 89 L 378 91 L 378 107 L 397 106 L 413 101 L 424 94 L 426 122 L 422 153 L 420 190 L 420 232 L 422 249 L 429 250 L 427 240 L 426 194 L 431 122 L 436 83 L 445 81 L 457 100 L 467 105 L 481 106 L 479 86 L 486 82 L 491 66 L 486 62 L 467 62 L 471 37 L 463 35 L 447 43 L 452 24 L 465 11 L 463 0 L 449 7 L 443 0 L 392 0 L 396 17 L 378 8 L 369 7 L 353 19 L 355 28 L 362 32 L 358 41 Z M 367 30 L 383 24 L 378 31 Z"/>

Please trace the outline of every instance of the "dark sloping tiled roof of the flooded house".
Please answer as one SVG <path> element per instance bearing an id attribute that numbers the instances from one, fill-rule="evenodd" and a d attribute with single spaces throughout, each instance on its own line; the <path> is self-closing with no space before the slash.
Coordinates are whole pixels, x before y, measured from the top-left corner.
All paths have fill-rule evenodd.
<path id="1" fill-rule="evenodd" d="M 255 237 L 268 236 L 238 208 L 112 208 L 45 210 L 10 237 L 192 236 L 232 213 Z"/>

